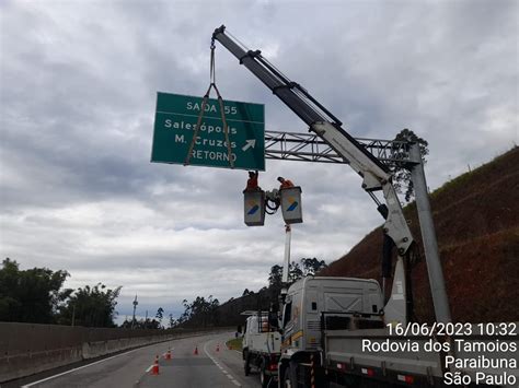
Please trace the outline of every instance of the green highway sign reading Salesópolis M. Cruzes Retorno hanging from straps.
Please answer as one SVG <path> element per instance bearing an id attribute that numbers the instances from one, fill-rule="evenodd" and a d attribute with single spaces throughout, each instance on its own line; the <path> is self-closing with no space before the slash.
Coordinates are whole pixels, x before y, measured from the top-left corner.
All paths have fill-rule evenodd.
<path id="1" fill-rule="evenodd" d="M 195 136 L 201 97 L 159 92 L 151 162 L 184 164 Z M 223 101 L 234 168 L 265 171 L 265 108 Z M 218 99 L 207 101 L 189 165 L 230 168 Z"/>

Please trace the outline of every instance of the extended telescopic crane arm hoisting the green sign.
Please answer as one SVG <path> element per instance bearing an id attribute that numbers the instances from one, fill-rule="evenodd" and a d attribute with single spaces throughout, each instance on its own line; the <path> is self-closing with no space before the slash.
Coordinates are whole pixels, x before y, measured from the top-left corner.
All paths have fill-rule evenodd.
<path id="1" fill-rule="evenodd" d="M 277 95 L 296 115 L 301 118 L 323 141 L 337 152 L 351 168 L 362 177 L 362 188 L 372 191 L 382 190 L 387 203 L 384 233 L 397 247 L 399 255 L 407 252 L 413 243 L 413 236 L 402 212 L 400 200 L 391 183 L 388 168 L 359 144 L 343 128 L 342 122 L 322 106 L 301 85 L 290 81 L 272 63 L 263 58 L 260 50 L 247 50 L 226 33 L 226 26 L 215 30 L 212 39 L 218 40 L 231 51 L 240 63 L 256 75 L 275 95 Z M 382 205 L 383 207 L 383 205 Z"/>

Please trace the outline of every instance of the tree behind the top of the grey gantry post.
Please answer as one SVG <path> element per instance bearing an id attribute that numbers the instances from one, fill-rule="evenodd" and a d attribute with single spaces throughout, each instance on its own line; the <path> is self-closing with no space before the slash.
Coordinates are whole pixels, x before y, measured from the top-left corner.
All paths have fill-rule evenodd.
<path id="1" fill-rule="evenodd" d="M 419 144 L 419 150 L 422 153 L 422 158 L 424 164 L 426 163 L 425 156 L 429 154 L 429 149 L 427 148 L 429 143 L 425 140 L 419 138 L 415 132 L 412 130 L 404 128 L 401 130 L 396 137 L 394 138 L 395 141 L 412 141 Z M 406 157 L 408 151 L 395 149 L 394 155 L 400 157 Z M 405 196 L 405 201 L 410 202 L 414 198 L 414 187 L 413 181 L 411 180 L 411 171 L 407 169 L 407 166 L 404 163 L 397 163 L 393 168 L 393 186 L 399 193 L 403 193 Z"/>

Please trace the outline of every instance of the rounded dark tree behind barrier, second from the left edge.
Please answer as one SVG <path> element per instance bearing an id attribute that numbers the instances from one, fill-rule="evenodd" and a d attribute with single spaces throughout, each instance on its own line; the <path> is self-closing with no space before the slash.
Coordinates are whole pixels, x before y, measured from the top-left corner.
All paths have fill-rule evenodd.
<path id="1" fill-rule="evenodd" d="M 115 306 L 120 286 L 111 290 L 97 283 L 93 287 L 79 287 L 60 309 L 59 322 L 85 327 L 115 327 Z"/>

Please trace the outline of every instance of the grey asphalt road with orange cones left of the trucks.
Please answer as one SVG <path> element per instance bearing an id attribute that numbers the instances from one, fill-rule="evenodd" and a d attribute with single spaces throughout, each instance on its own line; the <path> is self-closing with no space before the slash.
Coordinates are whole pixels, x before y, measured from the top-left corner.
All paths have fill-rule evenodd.
<path id="1" fill-rule="evenodd" d="M 241 353 L 226 348 L 233 336 L 217 333 L 162 342 L 24 383 L 23 387 L 261 387 L 257 373 L 244 375 Z M 169 349 L 172 360 L 165 358 Z M 152 375 L 157 355 L 159 375 Z M 272 381 L 270 387 L 276 386 Z"/>

